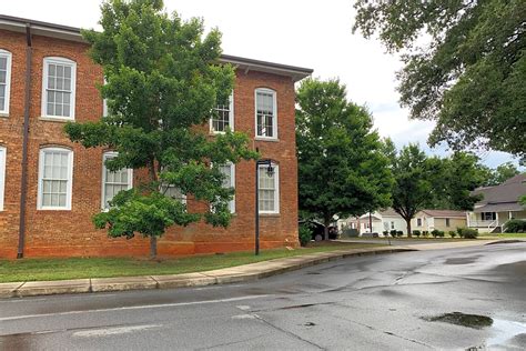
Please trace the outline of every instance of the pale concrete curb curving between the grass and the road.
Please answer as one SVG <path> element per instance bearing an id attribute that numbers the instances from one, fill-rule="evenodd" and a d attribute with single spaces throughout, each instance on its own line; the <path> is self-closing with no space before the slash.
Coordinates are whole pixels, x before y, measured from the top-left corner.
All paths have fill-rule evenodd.
<path id="1" fill-rule="evenodd" d="M 109 291 L 129 291 L 146 289 L 174 289 L 206 287 L 225 283 L 254 281 L 305 267 L 345 259 L 348 257 L 384 254 L 417 251 L 413 248 L 351 249 L 332 252 L 311 253 L 305 255 L 275 259 L 244 265 L 223 268 L 196 273 L 91 278 L 57 281 L 31 281 L 0 283 L 0 299 L 52 295 L 67 293 L 90 293 Z"/>

